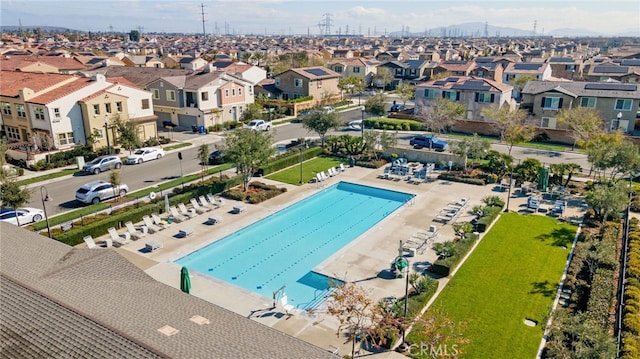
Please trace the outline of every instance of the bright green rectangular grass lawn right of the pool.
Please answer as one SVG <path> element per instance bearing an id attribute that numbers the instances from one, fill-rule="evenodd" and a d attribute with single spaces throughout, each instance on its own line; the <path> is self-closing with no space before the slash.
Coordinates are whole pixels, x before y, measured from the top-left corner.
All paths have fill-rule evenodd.
<path id="1" fill-rule="evenodd" d="M 535 357 L 575 231 L 553 218 L 504 214 L 427 315 L 439 309 L 466 323 L 464 358 Z M 420 342 L 416 332 L 408 339 Z"/>

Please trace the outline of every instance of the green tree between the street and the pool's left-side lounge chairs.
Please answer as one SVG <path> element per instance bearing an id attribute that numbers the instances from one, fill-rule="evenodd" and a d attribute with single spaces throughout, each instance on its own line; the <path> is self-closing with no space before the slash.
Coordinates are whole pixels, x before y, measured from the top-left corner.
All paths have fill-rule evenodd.
<path id="1" fill-rule="evenodd" d="M 240 128 L 227 134 L 220 150 L 238 167 L 242 176 L 243 189 L 249 188 L 249 181 L 258 168 L 276 153 L 271 146 L 271 133 Z"/>

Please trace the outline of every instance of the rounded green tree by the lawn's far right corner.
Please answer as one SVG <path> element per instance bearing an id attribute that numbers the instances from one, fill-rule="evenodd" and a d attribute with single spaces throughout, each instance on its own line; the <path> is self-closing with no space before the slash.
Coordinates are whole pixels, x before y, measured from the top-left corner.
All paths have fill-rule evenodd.
<path id="1" fill-rule="evenodd" d="M 596 217 L 604 223 L 610 215 L 622 211 L 629 202 L 629 187 L 624 182 L 599 183 L 585 196 Z"/>

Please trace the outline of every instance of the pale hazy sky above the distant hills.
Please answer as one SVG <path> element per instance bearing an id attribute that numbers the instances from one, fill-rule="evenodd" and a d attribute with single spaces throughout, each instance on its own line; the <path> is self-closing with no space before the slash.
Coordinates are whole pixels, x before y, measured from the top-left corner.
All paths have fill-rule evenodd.
<path id="1" fill-rule="evenodd" d="M 204 7 L 201 7 L 204 5 Z M 93 32 L 383 35 L 488 23 L 551 34 L 584 29 L 610 35 L 640 31 L 640 0 L 0 0 L 3 26 L 59 26 Z M 325 15 L 330 14 L 330 15 Z"/>

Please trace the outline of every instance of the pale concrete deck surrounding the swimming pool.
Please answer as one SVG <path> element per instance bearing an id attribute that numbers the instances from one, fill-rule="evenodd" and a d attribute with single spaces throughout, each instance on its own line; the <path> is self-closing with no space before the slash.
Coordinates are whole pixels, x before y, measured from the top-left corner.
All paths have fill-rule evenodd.
<path id="1" fill-rule="evenodd" d="M 401 240 L 405 241 L 418 232 L 427 231 L 430 225 L 436 225 L 440 233 L 436 242 L 454 238 L 453 222 L 446 225 L 433 222 L 438 212 L 447 204 L 468 198 L 469 201 L 464 211 L 461 211 L 455 218 L 455 221 L 468 221 L 473 218 L 469 211 L 473 206 L 481 204 L 483 197 L 499 195 L 505 200 L 507 198 L 506 192 L 497 192 L 496 188 L 491 185 L 475 186 L 440 181 L 435 180 L 436 175 L 434 174 L 432 174 L 433 181 L 416 185 L 406 181 L 378 178 L 381 173 L 382 169 L 348 168 L 347 171 L 330 178 L 325 183 L 332 185 L 338 181 L 347 181 L 376 186 L 415 194 L 414 200 L 400 207 L 391 216 L 383 219 L 375 227 L 314 268 L 314 271 L 319 273 L 359 283 L 375 300 L 388 296 L 402 297 L 404 295 L 404 280 L 392 279 L 388 275 L 391 262 L 399 254 Z M 219 209 L 197 215 L 183 223 L 174 222 L 163 231 L 147 234 L 144 238 L 131 241 L 115 250 L 122 253 L 154 279 L 179 289 L 180 266 L 173 261 L 313 195 L 323 188 L 315 183 L 293 186 L 264 178 L 254 180 L 286 187 L 287 192 L 257 205 L 243 204 L 245 211 L 237 214 L 232 213 L 232 210 L 240 203 L 226 200 L 226 203 Z M 584 212 L 585 207 L 577 200 L 572 201 L 569 198 L 568 202 L 565 216 L 577 220 Z M 543 205 L 549 208 L 550 203 L 543 202 Z M 526 197 L 515 197 L 515 194 L 512 194 L 510 209 L 523 213 L 529 212 L 526 210 Z M 221 216 L 222 221 L 213 225 L 207 224 L 208 218 L 213 215 Z M 193 229 L 193 234 L 179 238 L 178 232 L 185 227 Z M 96 240 L 100 243 L 104 238 Z M 162 247 L 153 252 L 147 252 L 145 243 L 149 241 L 158 241 Z M 424 269 L 429 263 L 436 260 L 435 252 L 431 250 L 430 246 L 426 247 L 428 248 L 424 252 L 418 251 L 414 257 L 408 258 L 413 270 Z M 439 281 L 440 288 L 443 288 L 448 278 L 441 278 Z M 336 336 L 338 321 L 323 311 L 322 305 L 313 313 L 295 312 L 294 315 L 289 316 L 282 308 L 273 308 L 274 303 L 271 298 L 262 297 L 215 278 L 192 272 L 191 284 L 191 295 L 247 318 L 252 318 L 316 346 L 327 349 L 339 348 L 341 355 L 351 352 L 351 346 L 346 338 Z M 380 356 L 393 358 L 394 354 L 398 357 L 404 357 L 393 352 Z"/>

